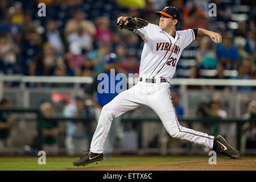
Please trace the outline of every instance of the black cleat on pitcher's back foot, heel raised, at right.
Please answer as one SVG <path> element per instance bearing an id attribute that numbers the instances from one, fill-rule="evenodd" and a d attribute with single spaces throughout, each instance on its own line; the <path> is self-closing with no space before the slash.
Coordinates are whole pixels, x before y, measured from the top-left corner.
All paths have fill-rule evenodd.
<path id="1" fill-rule="evenodd" d="M 240 158 L 238 151 L 234 147 L 230 146 L 221 135 L 218 135 L 214 140 L 217 143 L 217 154 L 226 155 L 232 159 Z"/>

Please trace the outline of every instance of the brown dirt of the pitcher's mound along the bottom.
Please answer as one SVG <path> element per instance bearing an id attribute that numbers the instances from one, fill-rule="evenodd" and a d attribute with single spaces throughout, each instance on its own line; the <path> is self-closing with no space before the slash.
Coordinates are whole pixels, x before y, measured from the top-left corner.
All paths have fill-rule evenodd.
<path id="1" fill-rule="evenodd" d="M 67 168 L 58 171 L 256 171 L 256 159 L 218 159 L 216 165 L 208 160 L 162 164 Z"/>

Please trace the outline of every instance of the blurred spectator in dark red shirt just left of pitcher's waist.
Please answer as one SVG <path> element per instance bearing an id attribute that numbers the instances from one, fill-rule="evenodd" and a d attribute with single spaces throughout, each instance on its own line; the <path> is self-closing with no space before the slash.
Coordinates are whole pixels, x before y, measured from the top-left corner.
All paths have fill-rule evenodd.
<path id="1" fill-rule="evenodd" d="M 128 55 L 128 59 L 125 62 L 122 62 L 119 65 L 119 72 L 125 73 L 129 76 L 129 73 L 138 73 L 139 74 L 139 66 L 138 59 L 135 54 Z"/>

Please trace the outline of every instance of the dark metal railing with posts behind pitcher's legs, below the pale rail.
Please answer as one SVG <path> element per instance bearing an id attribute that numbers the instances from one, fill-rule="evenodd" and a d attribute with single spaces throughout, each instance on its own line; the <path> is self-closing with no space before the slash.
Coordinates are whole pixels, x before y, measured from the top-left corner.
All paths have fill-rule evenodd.
<path id="1" fill-rule="evenodd" d="M 92 130 L 92 122 L 95 121 L 93 117 L 44 117 L 44 115 L 38 109 L 30 109 L 30 108 L 10 108 L 10 109 L 0 109 L 0 113 L 2 112 L 9 112 L 9 113 L 35 113 L 37 115 L 36 121 L 38 122 L 38 137 L 39 137 L 39 148 L 38 150 L 42 150 L 43 148 L 43 121 L 57 121 L 57 122 L 64 122 L 64 121 L 83 121 L 86 126 L 88 127 L 88 136 L 89 140 L 92 139 L 94 131 Z M 178 118 L 180 122 L 187 122 L 188 127 L 192 128 L 193 122 L 200 122 L 200 123 L 215 123 L 215 122 L 222 122 L 222 123 L 230 123 L 236 122 L 237 124 L 237 138 L 236 138 L 236 145 L 238 150 L 241 148 L 241 135 L 242 135 L 242 125 L 245 122 L 255 122 L 254 119 L 241 119 L 241 118 L 229 118 L 229 119 L 216 119 L 216 118 Z M 143 122 L 160 122 L 158 117 L 122 117 L 122 122 L 133 122 L 137 125 L 137 133 L 139 135 L 139 149 L 142 149 L 142 124 Z"/>

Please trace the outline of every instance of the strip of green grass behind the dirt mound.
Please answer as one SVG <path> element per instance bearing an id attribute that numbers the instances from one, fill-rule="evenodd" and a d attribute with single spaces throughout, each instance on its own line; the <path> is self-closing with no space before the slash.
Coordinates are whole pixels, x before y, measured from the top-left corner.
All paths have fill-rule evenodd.
<path id="1" fill-rule="evenodd" d="M 35 157 L 7 157 L 0 158 L 1 171 L 46 171 L 54 169 L 77 168 L 72 162 L 76 157 L 46 157 L 46 164 L 38 164 L 39 156 Z M 100 166 L 122 166 L 132 164 L 156 164 L 181 162 L 189 160 L 208 160 L 208 156 L 115 156 L 105 158 L 103 162 L 98 164 L 88 164 L 85 167 L 100 167 Z M 221 158 L 221 159 L 225 159 Z"/>

